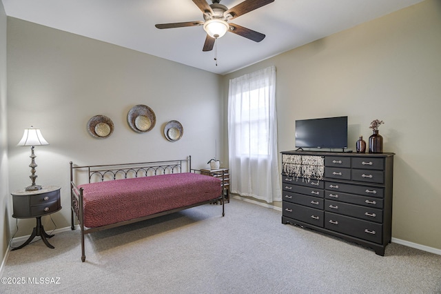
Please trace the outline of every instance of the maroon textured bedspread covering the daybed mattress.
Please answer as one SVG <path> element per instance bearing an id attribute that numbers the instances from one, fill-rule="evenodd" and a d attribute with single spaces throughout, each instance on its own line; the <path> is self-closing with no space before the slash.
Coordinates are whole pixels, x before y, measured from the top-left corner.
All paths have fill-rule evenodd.
<path id="1" fill-rule="evenodd" d="M 80 185 L 84 225 L 115 224 L 215 199 L 220 179 L 196 173 L 155 175 Z"/>

